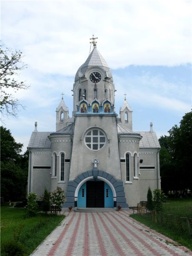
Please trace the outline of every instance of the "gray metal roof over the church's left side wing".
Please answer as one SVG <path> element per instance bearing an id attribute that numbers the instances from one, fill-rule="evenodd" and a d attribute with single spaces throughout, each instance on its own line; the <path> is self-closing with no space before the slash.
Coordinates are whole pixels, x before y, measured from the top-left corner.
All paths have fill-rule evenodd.
<path id="1" fill-rule="evenodd" d="M 32 132 L 30 141 L 29 141 L 29 148 L 50 148 L 51 142 L 48 139 L 48 136 L 51 132 Z"/>

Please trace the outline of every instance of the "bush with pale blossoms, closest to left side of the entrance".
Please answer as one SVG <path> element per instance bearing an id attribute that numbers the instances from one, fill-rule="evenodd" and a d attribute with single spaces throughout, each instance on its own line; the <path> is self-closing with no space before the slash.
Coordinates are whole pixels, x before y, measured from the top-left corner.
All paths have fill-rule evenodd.
<path id="1" fill-rule="evenodd" d="M 57 187 L 51 193 L 51 209 L 54 214 L 57 214 L 59 210 L 61 210 L 61 205 L 66 201 L 65 192 L 60 187 Z"/>

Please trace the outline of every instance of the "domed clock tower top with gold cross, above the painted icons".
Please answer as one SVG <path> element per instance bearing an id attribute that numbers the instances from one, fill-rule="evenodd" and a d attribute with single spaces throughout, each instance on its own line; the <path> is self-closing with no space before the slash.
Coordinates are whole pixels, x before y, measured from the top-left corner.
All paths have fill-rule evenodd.
<path id="1" fill-rule="evenodd" d="M 105 100 L 114 106 L 113 76 L 108 64 L 96 47 L 96 38 L 90 38 L 93 50 L 87 60 L 79 67 L 73 84 L 73 115 L 78 111 L 81 100 L 91 105 L 97 100 L 101 105 Z"/>

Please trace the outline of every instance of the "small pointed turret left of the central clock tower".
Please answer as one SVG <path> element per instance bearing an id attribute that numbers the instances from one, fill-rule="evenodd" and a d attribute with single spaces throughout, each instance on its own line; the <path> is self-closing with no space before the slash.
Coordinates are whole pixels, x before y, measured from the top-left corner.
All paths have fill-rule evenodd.
<path id="1" fill-rule="evenodd" d="M 67 125 L 67 121 L 69 118 L 69 109 L 65 105 L 64 99 L 63 99 L 63 93 L 62 93 L 62 99 L 59 103 L 58 107 L 56 108 L 56 131 L 61 130 Z"/>

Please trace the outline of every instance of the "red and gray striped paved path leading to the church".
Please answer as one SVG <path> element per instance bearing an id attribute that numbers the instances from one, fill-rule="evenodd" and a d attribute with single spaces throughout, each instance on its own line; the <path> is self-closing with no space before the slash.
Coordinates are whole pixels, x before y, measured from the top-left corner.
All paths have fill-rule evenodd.
<path id="1" fill-rule="evenodd" d="M 32 256 L 192 256 L 185 247 L 129 217 L 129 211 L 65 212 Z"/>

